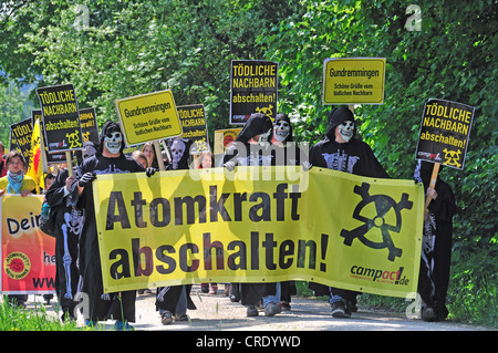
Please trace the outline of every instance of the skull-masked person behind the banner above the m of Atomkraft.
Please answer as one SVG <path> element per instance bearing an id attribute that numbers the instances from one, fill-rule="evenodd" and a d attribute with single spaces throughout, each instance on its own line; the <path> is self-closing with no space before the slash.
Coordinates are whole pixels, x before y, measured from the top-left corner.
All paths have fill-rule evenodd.
<path id="1" fill-rule="evenodd" d="M 172 162 L 166 167 L 167 170 L 188 169 L 190 159 L 190 147 L 193 141 L 188 138 L 175 137 L 170 141 Z M 147 168 L 148 177 L 152 177 L 157 168 Z M 159 287 L 156 292 L 156 310 L 160 314 L 160 322 L 164 325 L 173 321 L 186 321 L 187 309 L 196 310 L 190 298 L 191 284 Z"/>

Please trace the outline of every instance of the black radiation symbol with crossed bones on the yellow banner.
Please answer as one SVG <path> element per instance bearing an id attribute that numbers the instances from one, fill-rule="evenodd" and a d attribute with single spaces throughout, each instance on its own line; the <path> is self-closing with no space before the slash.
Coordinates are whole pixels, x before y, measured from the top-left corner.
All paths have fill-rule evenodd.
<path id="1" fill-rule="evenodd" d="M 363 183 L 362 186 L 356 185 L 354 187 L 354 193 L 360 195 L 362 197 L 362 200 L 354 208 L 353 218 L 364 222 L 364 225 L 352 230 L 342 229 L 341 237 L 344 238 L 344 245 L 346 246 L 351 246 L 353 243 L 353 240 L 357 238 L 369 248 L 387 248 L 390 251 L 387 259 L 390 261 L 394 261 L 396 257 L 401 258 L 403 250 L 396 248 L 393 239 L 391 238 L 391 232 L 400 232 L 402 227 L 401 211 L 402 209 L 412 209 L 413 203 L 408 200 L 408 194 L 403 194 L 400 203 L 396 203 L 392 197 L 387 195 L 370 195 L 369 190 L 370 185 L 366 183 Z M 361 212 L 363 208 L 372 203 L 374 203 L 376 216 L 374 216 L 373 218 L 362 216 Z M 384 219 L 386 214 L 392 210 L 394 210 L 395 212 L 395 225 L 390 225 Z M 372 241 L 366 238 L 366 233 L 372 228 L 377 228 L 381 230 L 382 241 Z"/>

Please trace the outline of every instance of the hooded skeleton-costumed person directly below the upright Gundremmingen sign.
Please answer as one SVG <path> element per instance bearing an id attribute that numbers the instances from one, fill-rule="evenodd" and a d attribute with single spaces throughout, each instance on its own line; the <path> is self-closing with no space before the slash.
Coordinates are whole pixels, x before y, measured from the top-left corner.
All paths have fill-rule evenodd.
<path id="1" fill-rule="evenodd" d="M 354 138 L 356 125 L 353 113 L 344 106 L 329 113 L 326 137 L 310 149 L 311 166 L 345 172 L 365 177 L 388 178 L 372 149 Z M 332 316 L 349 318 L 355 311 L 357 292 L 310 283 L 318 295 L 330 295 Z"/>

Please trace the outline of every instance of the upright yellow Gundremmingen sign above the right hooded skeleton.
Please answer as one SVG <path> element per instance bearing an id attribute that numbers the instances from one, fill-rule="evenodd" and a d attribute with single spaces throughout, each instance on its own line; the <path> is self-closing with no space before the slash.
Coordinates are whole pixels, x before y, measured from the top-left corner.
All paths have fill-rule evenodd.
<path id="1" fill-rule="evenodd" d="M 384 103 L 385 58 L 326 59 L 323 104 Z"/>

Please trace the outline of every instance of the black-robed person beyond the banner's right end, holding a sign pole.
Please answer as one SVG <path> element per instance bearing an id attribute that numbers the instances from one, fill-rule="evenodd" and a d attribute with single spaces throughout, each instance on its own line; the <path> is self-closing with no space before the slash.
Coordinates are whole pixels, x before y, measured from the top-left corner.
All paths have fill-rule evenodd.
<path id="1" fill-rule="evenodd" d="M 448 315 L 446 294 L 452 262 L 453 216 L 457 209 L 452 187 L 440 177 L 435 188 L 428 187 L 433 167 L 433 163 L 418 160 L 414 175 L 416 181 L 424 184 L 424 190 L 430 197 L 428 214 L 424 219 L 418 276 L 424 321 L 440 321 Z"/>

